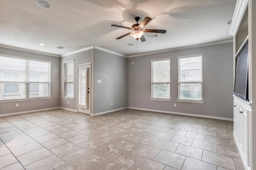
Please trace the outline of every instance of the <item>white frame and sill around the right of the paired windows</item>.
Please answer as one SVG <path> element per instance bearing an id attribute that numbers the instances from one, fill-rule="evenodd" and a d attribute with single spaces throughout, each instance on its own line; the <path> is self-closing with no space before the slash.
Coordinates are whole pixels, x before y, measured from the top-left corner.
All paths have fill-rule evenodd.
<path id="1" fill-rule="evenodd" d="M 201 83 L 201 99 L 180 99 L 180 84 L 184 82 L 180 82 L 180 59 L 181 58 L 193 58 L 193 57 L 201 57 L 201 80 L 198 82 L 195 81 L 186 81 L 185 83 Z M 196 55 L 186 55 L 177 57 L 178 59 L 178 102 L 185 102 L 185 103 L 200 103 L 203 104 L 203 54 L 196 54 Z"/>

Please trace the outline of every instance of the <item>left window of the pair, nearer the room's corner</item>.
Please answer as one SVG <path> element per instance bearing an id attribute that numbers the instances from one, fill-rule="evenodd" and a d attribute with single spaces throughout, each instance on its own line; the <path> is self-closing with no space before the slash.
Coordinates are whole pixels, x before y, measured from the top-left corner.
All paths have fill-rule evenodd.
<path id="1" fill-rule="evenodd" d="M 151 60 L 151 99 L 170 99 L 170 58 Z"/>

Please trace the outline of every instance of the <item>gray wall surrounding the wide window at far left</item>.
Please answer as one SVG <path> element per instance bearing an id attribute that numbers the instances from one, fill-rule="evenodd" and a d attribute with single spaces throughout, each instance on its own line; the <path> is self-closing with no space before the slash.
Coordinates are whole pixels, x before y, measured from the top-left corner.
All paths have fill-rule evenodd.
<path id="1" fill-rule="evenodd" d="M 51 57 L 48 55 L 41 55 L 36 53 L 29 53 L 25 51 L 18 51 L 14 49 L 7 49 L 0 47 L 0 54 L 14 55 L 19 57 L 42 59 L 52 61 L 51 63 L 51 96 L 52 99 L 30 100 L 30 101 L 16 101 L 0 103 L 0 114 L 16 113 L 23 111 L 32 111 L 38 109 L 47 109 L 60 106 L 60 58 Z M 18 103 L 19 107 L 15 107 Z"/>

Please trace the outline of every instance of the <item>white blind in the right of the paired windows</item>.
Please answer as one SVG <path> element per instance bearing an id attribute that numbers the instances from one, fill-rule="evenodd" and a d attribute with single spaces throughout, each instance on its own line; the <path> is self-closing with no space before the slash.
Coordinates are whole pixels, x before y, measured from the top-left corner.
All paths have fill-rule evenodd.
<path id="1" fill-rule="evenodd" d="M 178 99 L 202 101 L 202 56 L 178 57 Z"/>

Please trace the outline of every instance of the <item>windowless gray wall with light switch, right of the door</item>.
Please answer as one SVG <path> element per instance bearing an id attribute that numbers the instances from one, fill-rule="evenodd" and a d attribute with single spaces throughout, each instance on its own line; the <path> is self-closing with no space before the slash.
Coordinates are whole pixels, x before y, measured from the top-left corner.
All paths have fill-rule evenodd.
<path id="1" fill-rule="evenodd" d="M 126 58 L 94 49 L 94 113 L 123 107 L 126 107 Z"/>

